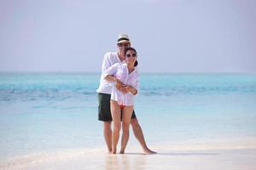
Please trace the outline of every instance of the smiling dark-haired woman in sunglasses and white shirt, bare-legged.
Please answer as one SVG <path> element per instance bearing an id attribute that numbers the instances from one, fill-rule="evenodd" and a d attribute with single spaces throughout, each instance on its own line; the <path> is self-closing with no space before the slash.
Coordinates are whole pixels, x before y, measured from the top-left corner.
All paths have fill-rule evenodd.
<path id="1" fill-rule="evenodd" d="M 133 111 L 133 96 L 137 94 L 139 79 L 137 73 L 137 51 L 135 48 L 125 48 L 125 63 L 116 63 L 105 72 L 105 79 L 115 82 L 112 88 L 110 108 L 113 118 L 112 153 L 116 154 L 121 129 L 122 111 L 122 143 L 120 153 L 125 153 L 125 146 L 129 139 L 129 126 Z"/>

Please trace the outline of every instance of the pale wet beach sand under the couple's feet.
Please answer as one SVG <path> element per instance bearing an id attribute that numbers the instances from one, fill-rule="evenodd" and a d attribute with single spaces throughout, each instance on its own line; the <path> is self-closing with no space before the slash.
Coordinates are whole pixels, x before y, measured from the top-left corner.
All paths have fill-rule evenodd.
<path id="1" fill-rule="evenodd" d="M 254 141 L 254 140 L 253 140 Z M 156 155 L 144 155 L 138 146 L 128 146 L 125 155 L 109 155 L 102 148 L 42 152 L 4 161 L 0 169 L 256 169 L 256 147 L 247 144 L 151 145 Z"/>

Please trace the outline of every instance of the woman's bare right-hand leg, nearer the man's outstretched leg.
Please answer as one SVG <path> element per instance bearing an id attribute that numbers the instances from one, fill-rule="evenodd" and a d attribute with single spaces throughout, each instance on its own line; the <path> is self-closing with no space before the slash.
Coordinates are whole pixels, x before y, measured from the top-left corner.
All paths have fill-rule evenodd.
<path id="1" fill-rule="evenodd" d="M 123 109 L 123 115 L 122 115 L 123 136 L 122 136 L 120 154 L 125 153 L 125 147 L 129 140 L 129 127 L 131 122 L 132 111 L 133 111 L 133 106 L 125 106 L 125 108 Z"/>

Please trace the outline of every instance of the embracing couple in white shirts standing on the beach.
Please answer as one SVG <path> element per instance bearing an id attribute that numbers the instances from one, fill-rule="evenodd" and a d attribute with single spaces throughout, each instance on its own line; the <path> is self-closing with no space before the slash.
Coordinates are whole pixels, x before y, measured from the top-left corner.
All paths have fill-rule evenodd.
<path id="1" fill-rule="evenodd" d="M 117 42 L 118 52 L 107 53 L 102 62 L 102 77 L 97 89 L 99 99 L 99 121 L 103 122 L 103 133 L 108 153 L 116 154 L 119 141 L 119 131 L 123 136 L 120 154 L 125 153 L 125 146 L 129 139 L 129 126 L 145 154 L 156 152 L 149 150 L 143 136 L 143 130 L 137 122 L 133 110 L 133 95 L 137 94 L 137 52 L 131 48 L 127 35 L 120 34 Z M 120 121 L 122 120 L 122 122 Z M 113 121 L 113 132 L 111 122 Z"/>

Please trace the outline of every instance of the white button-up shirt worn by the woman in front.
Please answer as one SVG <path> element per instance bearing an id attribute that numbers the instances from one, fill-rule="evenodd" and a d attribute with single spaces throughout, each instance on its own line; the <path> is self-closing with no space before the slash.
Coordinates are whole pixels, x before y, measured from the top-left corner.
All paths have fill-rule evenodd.
<path id="1" fill-rule="evenodd" d="M 116 63 L 112 65 L 107 71 L 105 71 L 104 77 L 107 77 L 108 75 L 113 75 L 113 77 L 118 78 L 119 81 L 123 82 L 123 84 L 130 85 L 132 88 L 136 88 L 137 91 L 139 89 L 139 76 L 137 69 L 135 68 L 135 70 L 129 74 L 126 63 Z M 111 99 L 117 101 L 119 105 L 133 105 L 133 98 L 134 95 L 131 94 L 131 92 L 123 94 L 113 86 Z"/>

